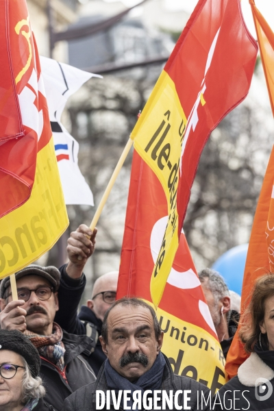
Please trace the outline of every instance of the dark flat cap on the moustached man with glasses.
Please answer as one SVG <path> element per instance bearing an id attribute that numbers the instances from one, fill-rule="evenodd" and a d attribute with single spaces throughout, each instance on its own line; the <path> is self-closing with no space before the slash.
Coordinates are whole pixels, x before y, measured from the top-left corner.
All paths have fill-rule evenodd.
<path id="1" fill-rule="evenodd" d="M 40 275 L 48 280 L 53 286 L 54 291 L 57 291 L 60 286 L 60 271 L 54 266 L 41 267 L 36 264 L 30 264 L 21 271 L 15 273 L 15 279 L 25 277 L 25 275 Z M 3 298 L 5 290 L 10 286 L 10 277 L 5 277 L 0 285 L 0 298 Z"/>

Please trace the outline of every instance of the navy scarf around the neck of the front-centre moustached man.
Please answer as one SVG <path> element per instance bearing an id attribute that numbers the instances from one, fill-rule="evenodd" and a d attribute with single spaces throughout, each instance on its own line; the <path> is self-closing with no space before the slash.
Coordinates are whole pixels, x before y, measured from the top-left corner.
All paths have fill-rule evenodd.
<path id="1" fill-rule="evenodd" d="M 122 377 L 110 365 L 109 360 L 105 361 L 105 378 L 107 380 L 108 388 L 114 389 L 116 393 L 118 390 L 130 390 L 132 393 L 135 390 L 141 390 L 142 394 L 145 390 L 159 390 L 162 386 L 162 377 L 164 374 L 164 366 L 166 360 L 160 352 L 156 360 L 151 366 L 151 369 L 145 374 L 141 375 L 136 382 L 130 382 L 128 379 Z M 133 400 L 130 401 L 130 409 L 132 409 Z M 129 405 L 129 404 L 127 404 Z"/>

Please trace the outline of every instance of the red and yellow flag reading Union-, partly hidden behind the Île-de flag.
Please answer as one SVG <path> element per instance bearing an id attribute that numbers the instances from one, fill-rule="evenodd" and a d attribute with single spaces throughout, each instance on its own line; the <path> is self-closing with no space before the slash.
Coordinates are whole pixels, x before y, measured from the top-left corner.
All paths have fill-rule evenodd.
<path id="1" fill-rule="evenodd" d="M 136 296 L 151 303 L 151 272 L 161 247 L 167 213 L 159 179 L 135 151 L 117 299 Z M 173 371 L 206 384 L 215 393 L 225 384 L 225 359 L 184 233 L 157 316 L 164 331 L 162 352 L 169 358 Z"/>

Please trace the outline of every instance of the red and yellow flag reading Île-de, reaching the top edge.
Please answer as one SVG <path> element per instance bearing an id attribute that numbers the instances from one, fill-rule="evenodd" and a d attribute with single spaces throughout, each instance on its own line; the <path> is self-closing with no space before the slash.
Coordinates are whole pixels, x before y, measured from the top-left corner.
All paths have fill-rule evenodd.
<path id="1" fill-rule="evenodd" d="M 151 276 L 155 306 L 177 251 L 201 151 L 212 129 L 247 95 L 256 55 L 238 0 L 200 0 L 134 127 L 134 147 L 157 175 L 168 207 Z"/>

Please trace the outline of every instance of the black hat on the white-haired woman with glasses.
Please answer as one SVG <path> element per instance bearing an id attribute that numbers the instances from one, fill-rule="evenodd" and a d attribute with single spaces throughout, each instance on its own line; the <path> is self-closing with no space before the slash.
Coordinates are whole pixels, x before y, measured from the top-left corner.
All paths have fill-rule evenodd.
<path id="1" fill-rule="evenodd" d="M 2 349 L 14 351 L 25 358 L 32 377 L 37 377 L 40 370 L 40 356 L 37 349 L 20 331 L 0 329 L 0 352 Z"/>

